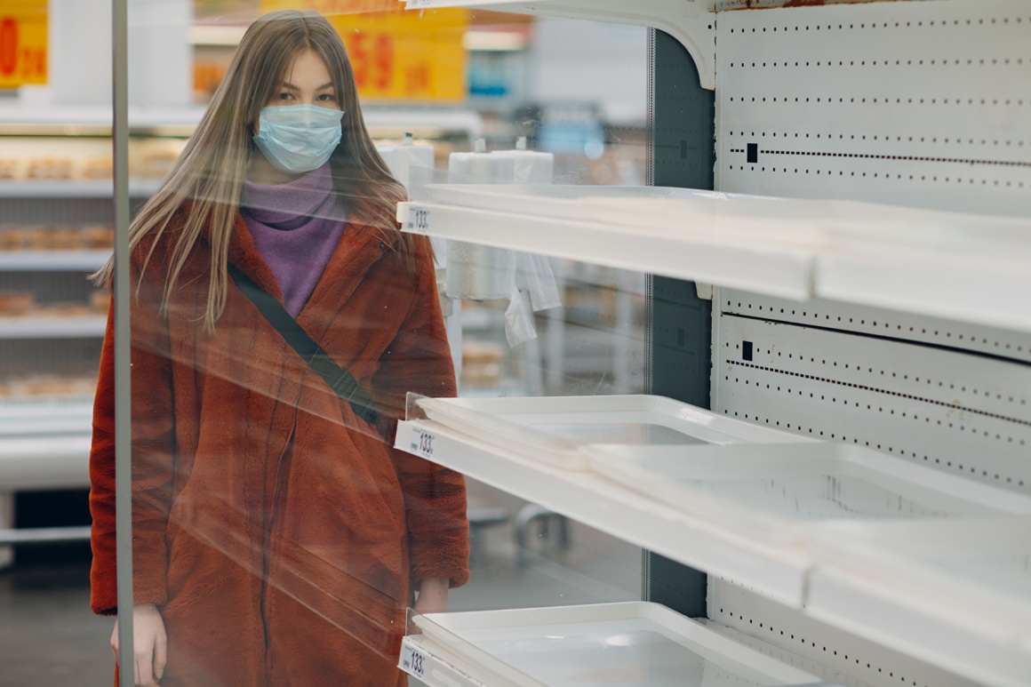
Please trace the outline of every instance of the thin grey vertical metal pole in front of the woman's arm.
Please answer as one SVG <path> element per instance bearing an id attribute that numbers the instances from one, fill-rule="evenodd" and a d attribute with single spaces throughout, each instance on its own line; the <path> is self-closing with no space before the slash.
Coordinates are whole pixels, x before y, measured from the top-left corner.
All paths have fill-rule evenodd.
<path id="1" fill-rule="evenodd" d="M 133 687 L 132 422 L 129 361 L 129 7 L 112 0 L 114 158 L 114 508 L 118 532 L 119 684 Z"/>

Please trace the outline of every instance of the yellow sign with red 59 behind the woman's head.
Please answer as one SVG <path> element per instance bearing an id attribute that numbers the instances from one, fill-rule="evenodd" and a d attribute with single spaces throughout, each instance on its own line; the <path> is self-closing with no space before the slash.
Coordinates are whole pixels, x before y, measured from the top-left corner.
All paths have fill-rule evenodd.
<path id="1" fill-rule="evenodd" d="M 325 14 L 343 39 L 363 98 L 465 98 L 466 9 L 407 11 L 398 0 L 262 0 L 261 8 Z"/>

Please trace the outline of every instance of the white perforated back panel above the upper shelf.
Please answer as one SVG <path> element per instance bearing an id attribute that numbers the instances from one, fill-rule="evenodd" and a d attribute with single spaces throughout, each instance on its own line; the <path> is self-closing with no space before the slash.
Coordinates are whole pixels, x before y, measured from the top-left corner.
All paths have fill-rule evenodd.
<path id="1" fill-rule="evenodd" d="M 1031 4 L 731 11 L 718 35 L 720 190 L 1031 210 Z"/>

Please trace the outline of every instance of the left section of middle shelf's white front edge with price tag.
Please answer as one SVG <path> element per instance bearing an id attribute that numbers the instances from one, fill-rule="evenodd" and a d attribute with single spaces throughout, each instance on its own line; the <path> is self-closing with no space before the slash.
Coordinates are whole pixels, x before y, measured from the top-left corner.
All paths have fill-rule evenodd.
<path id="1" fill-rule="evenodd" d="M 747 537 L 592 471 L 552 467 L 429 420 L 399 423 L 395 445 L 686 565 L 802 604 L 809 559 L 799 546 Z"/>

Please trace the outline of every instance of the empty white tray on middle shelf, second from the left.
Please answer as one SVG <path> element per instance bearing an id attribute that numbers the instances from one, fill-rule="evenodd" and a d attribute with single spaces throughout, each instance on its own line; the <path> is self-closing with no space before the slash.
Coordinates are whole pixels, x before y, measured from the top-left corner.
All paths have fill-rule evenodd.
<path id="1" fill-rule="evenodd" d="M 750 531 L 812 521 L 1031 514 L 1031 498 L 856 446 L 588 447 L 591 467 Z"/>

